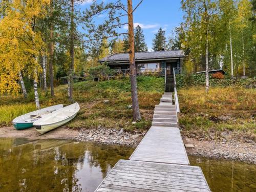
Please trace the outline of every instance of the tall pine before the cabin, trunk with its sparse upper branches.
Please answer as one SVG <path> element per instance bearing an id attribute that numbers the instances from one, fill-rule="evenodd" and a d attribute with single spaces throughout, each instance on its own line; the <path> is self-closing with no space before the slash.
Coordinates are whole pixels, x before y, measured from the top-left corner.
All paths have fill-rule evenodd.
<path id="1" fill-rule="evenodd" d="M 138 8 L 138 6 L 142 3 L 141 0 L 138 5 L 133 9 L 132 0 L 127 0 L 127 5 L 124 6 L 121 1 L 116 0 L 115 3 L 107 3 L 104 2 L 97 4 L 94 2 L 90 10 L 87 10 L 87 14 L 84 17 L 86 21 L 86 26 L 90 29 L 89 33 L 86 35 L 88 38 L 84 42 L 91 42 L 93 47 L 97 45 L 97 41 L 103 38 L 113 38 L 120 35 L 127 35 L 129 39 L 129 57 L 130 57 L 130 79 L 131 79 L 131 92 L 132 92 L 132 104 L 133 104 L 133 119 L 135 121 L 141 120 L 141 115 L 139 111 L 139 101 L 138 101 L 138 92 L 137 92 L 137 79 L 136 79 L 136 67 L 135 67 L 135 50 L 134 50 L 134 26 L 133 26 L 133 12 Z M 126 9 L 127 8 L 127 9 Z M 105 13 L 108 11 L 108 20 L 105 20 L 103 24 L 95 25 L 92 23 L 94 16 L 98 16 L 99 14 Z M 127 16 L 128 22 L 121 23 L 120 18 Z M 90 24 L 88 24 L 90 23 Z M 116 28 L 120 26 L 128 26 L 128 33 L 118 33 Z M 96 42 L 95 42 L 96 41 Z M 127 52 L 125 50 L 124 52 Z M 114 53 L 117 54 L 117 53 Z M 113 54 L 112 54 L 113 55 Z M 107 58 L 111 57 L 111 55 Z"/>

